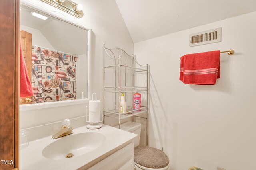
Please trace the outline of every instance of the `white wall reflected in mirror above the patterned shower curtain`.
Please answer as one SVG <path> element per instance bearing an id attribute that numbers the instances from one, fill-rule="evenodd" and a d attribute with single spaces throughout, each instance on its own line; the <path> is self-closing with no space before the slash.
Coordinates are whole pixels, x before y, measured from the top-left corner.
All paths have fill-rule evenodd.
<path id="1" fill-rule="evenodd" d="M 20 25 L 20 30 L 27 31 L 32 34 L 32 45 L 38 45 L 41 47 L 49 48 L 55 50 L 51 43 L 44 37 L 44 35 L 37 29 L 27 27 L 25 25 Z"/>

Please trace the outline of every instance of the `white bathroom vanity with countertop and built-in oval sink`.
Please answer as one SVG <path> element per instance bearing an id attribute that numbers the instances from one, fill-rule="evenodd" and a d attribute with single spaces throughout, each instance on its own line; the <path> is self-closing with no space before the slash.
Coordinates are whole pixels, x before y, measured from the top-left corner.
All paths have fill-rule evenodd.
<path id="1" fill-rule="evenodd" d="M 134 133 L 103 125 L 86 126 L 58 139 L 52 136 L 29 142 L 20 149 L 21 170 L 133 170 Z M 71 153 L 74 156 L 66 158 Z"/>

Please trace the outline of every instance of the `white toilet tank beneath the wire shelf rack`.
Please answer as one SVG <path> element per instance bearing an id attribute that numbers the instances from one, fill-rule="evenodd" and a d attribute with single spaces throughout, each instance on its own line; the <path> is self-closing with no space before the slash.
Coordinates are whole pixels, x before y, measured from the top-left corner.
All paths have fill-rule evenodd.
<path id="1" fill-rule="evenodd" d="M 118 128 L 118 125 L 116 125 L 115 127 Z M 128 131 L 128 132 L 135 133 L 138 135 L 134 139 L 134 147 L 136 147 L 140 144 L 140 131 L 141 131 L 140 123 L 127 121 L 127 122 L 121 124 L 121 129 L 124 131 Z"/>

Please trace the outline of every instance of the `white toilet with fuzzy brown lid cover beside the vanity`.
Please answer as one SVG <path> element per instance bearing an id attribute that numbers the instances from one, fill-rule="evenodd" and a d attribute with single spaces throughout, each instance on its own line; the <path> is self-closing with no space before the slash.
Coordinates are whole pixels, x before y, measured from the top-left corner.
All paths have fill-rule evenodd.
<path id="1" fill-rule="evenodd" d="M 118 125 L 115 127 L 118 128 Z M 128 121 L 121 124 L 121 129 L 138 135 L 134 140 L 134 170 L 167 170 L 169 168 L 169 158 L 166 156 L 164 152 L 153 147 L 139 145 L 140 131 L 141 131 L 140 123 Z M 136 153 L 140 154 L 138 155 L 138 158 L 136 158 Z M 145 154 L 145 156 L 143 156 L 143 154 Z M 154 159 L 147 162 L 148 160 L 147 157 L 148 156 L 151 157 L 150 154 L 152 156 L 156 156 L 156 154 L 159 154 L 159 157 L 163 156 L 164 160 L 161 161 L 161 158 L 159 158 L 158 160 Z M 167 162 L 167 159 L 168 159 L 168 162 Z M 157 164 L 161 164 L 161 162 L 164 162 L 164 167 L 162 167 L 162 165 L 157 165 Z M 152 168 L 152 167 L 157 167 L 157 168 Z"/>

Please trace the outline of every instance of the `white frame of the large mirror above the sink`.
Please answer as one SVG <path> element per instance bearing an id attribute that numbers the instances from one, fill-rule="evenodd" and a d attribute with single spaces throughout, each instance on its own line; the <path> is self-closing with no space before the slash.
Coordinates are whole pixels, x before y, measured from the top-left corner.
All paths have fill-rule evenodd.
<path id="1" fill-rule="evenodd" d="M 66 101 L 58 101 L 58 102 L 45 102 L 45 103 L 38 103 L 38 104 L 25 104 L 20 105 L 20 111 L 27 111 L 27 110 L 34 110 L 34 109 L 42 109 L 42 108 L 50 108 L 50 107 L 59 107 L 59 106 L 67 106 L 67 105 L 74 105 L 74 104 L 83 104 L 88 103 L 90 100 L 90 94 L 91 94 L 91 80 L 92 80 L 92 59 L 91 59 L 91 32 L 92 29 L 89 27 L 86 27 L 85 25 L 82 25 L 80 23 L 77 23 L 73 20 L 70 20 L 65 17 L 65 15 L 69 15 L 68 13 L 61 11 L 57 8 L 54 8 L 50 6 L 49 4 L 46 4 L 45 2 L 42 2 L 40 0 L 20 0 L 20 4 L 24 6 L 28 6 L 29 8 L 32 8 L 34 10 L 38 10 L 44 14 L 47 14 L 49 16 L 52 16 L 58 20 L 62 20 L 64 22 L 67 22 L 69 24 L 72 24 L 76 27 L 80 27 L 82 29 L 85 29 L 88 31 L 87 33 L 87 45 L 88 45 L 88 51 L 87 51 L 87 62 L 88 62 L 88 73 L 87 73 L 87 98 L 84 99 L 76 99 L 76 100 L 66 100 Z M 54 8 L 56 11 L 49 10 L 48 8 Z M 59 10 L 59 11 L 58 11 Z M 60 15 L 62 14 L 62 15 Z"/>

